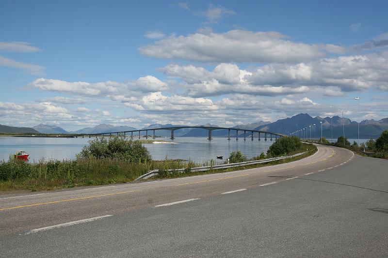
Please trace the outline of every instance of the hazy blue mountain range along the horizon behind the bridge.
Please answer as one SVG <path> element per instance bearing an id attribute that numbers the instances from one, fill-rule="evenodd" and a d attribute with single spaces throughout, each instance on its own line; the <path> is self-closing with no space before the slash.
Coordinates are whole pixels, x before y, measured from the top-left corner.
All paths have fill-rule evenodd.
<path id="1" fill-rule="evenodd" d="M 275 122 L 269 121 L 258 121 L 254 123 L 248 124 L 240 124 L 236 125 L 232 128 L 236 128 L 239 130 L 259 130 L 266 132 L 276 132 L 280 134 L 286 134 L 295 132 L 297 130 L 303 129 L 307 127 L 307 137 L 310 134 L 311 126 L 311 137 L 315 136 L 320 137 L 321 133 L 321 122 L 322 122 L 322 133 L 323 137 L 331 138 L 333 132 L 333 138 L 337 138 L 343 135 L 343 131 L 345 131 L 345 137 L 347 138 L 357 138 L 358 135 L 358 123 L 356 121 L 351 121 L 348 118 L 343 119 L 342 126 L 342 118 L 339 116 L 334 116 L 332 118 L 325 117 L 321 118 L 311 117 L 308 114 L 297 114 L 292 116 L 291 118 L 280 119 Z M 314 128 L 315 124 L 315 128 Z M 174 124 L 151 124 L 147 127 L 141 128 L 141 130 L 149 129 L 152 130 L 154 128 L 161 127 L 178 127 L 184 125 L 174 125 Z M 204 124 L 198 126 L 212 126 L 218 127 L 214 124 Z M 376 138 L 379 137 L 381 132 L 384 130 L 388 130 L 388 118 L 381 119 L 379 121 L 364 120 L 359 124 L 360 127 L 360 138 Z M 112 132 L 124 132 L 124 131 L 132 131 L 139 130 L 130 126 L 113 126 L 110 124 L 99 124 L 94 127 L 86 127 L 77 131 L 68 132 L 65 129 L 56 126 L 56 125 L 46 125 L 46 124 L 38 124 L 33 128 L 29 127 L 12 127 L 6 125 L 0 125 L 0 133 L 43 133 L 43 134 L 98 134 L 98 133 L 112 133 Z M 148 132 L 149 135 L 152 133 Z M 208 131 L 200 128 L 183 128 L 174 132 L 175 137 L 208 137 Z M 212 132 L 212 137 L 226 137 L 228 134 L 227 130 L 214 130 Z M 231 131 L 231 136 L 235 135 L 235 131 Z M 170 137 L 171 132 L 167 130 L 161 130 L 156 132 L 156 135 L 162 137 Z M 242 133 L 239 134 L 242 136 Z"/>

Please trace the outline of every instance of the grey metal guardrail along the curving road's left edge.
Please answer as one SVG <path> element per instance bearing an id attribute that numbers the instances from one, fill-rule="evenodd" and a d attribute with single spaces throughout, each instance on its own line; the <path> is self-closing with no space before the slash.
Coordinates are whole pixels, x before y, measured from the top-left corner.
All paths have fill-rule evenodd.
<path id="1" fill-rule="evenodd" d="M 311 151 L 307 151 L 307 152 L 311 152 Z M 270 158 L 270 159 L 252 160 L 252 161 L 244 161 L 244 162 L 239 162 L 239 163 L 221 164 L 221 165 L 213 165 L 213 166 L 206 166 L 206 167 L 192 167 L 190 169 L 190 171 L 191 172 L 201 172 L 201 171 L 208 171 L 208 170 L 215 170 L 215 169 L 225 169 L 225 168 L 231 168 L 231 167 L 242 167 L 242 166 L 249 166 L 249 165 L 255 165 L 255 164 L 260 164 L 260 163 L 268 163 L 268 162 L 272 162 L 272 161 L 276 161 L 276 160 L 297 157 L 297 156 L 303 155 L 307 152 L 300 152 L 300 153 L 296 153 L 296 154 L 290 155 L 290 156 L 281 156 L 281 157 Z M 167 171 L 168 172 L 183 173 L 186 169 L 187 168 L 168 169 Z M 157 175 L 159 175 L 158 172 L 159 172 L 159 169 L 151 170 L 148 173 L 136 178 L 134 181 L 138 181 L 141 179 L 148 179 L 150 177 L 157 176 Z"/>

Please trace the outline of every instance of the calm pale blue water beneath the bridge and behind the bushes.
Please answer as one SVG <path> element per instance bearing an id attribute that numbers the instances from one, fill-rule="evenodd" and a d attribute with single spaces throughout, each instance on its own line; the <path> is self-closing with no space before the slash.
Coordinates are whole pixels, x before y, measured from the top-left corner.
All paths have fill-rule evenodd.
<path id="1" fill-rule="evenodd" d="M 88 144 L 89 138 L 34 138 L 34 137 L 0 137 L 0 160 L 8 160 L 9 154 L 23 150 L 30 154 L 30 161 L 46 159 L 74 159 L 82 147 Z M 177 137 L 174 140 L 157 138 L 157 140 L 174 143 L 144 144 L 154 160 L 191 159 L 203 163 L 216 159 L 217 155 L 227 158 L 230 152 L 240 150 L 248 158 L 266 152 L 272 144 L 270 140 L 253 141 L 247 138 L 231 139 L 215 137 L 209 141 L 205 137 Z M 218 160 L 223 162 L 222 160 Z"/>

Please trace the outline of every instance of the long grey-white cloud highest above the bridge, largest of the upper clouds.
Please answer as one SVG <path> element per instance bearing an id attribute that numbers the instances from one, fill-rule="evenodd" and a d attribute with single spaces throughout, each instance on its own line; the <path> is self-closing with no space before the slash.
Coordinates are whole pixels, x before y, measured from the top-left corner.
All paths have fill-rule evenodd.
<path id="1" fill-rule="evenodd" d="M 319 46 L 286 38 L 275 31 L 201 30 L 187 36 L 171 35 L 153 45 L 139 47 L 138 51 L 153 58 L 201 62 L 299 62 L 324 56 Z"/>

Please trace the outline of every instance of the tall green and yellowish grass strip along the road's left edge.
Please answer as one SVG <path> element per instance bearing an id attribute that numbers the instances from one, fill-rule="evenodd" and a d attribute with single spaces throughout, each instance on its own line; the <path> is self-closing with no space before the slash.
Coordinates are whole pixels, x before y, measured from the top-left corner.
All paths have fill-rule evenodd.
<path id="1" fill-rule="evenodd" d="M 306 149 L 311 150 L 311 146 L 312 145 L 304 144 L 301 149 L 295 151 L 295 153 L 305 152 Z M 314 148 L 316 150 L 316 147 Z M 144 163 L 130 163 L 126 160 L 112 158 L 87 158 L 62 161 L 42 159 L 37 162 L 26 163 L 10 156 L 9 161 L 0 161 L 0 192 L 16 190 L 42 191 L 84 185 L 126 183 L 133 181 L 153 169 L 160 170 L 158 178 L 175 178 L 220 173 L 287 163 L 307 157 L 314 152 L 309 152 L 298 157 L 274 161 L 267 164 L 257 164 L 223 170 L 210 170 L 205 172 L 191 172 L 190 168 L 210 164 L 196 164 L 190 160 L 188 162 L 182 160 L 171 160 L 167 159 L 167 157 L 162 161 Z M 259 159 L 259 156 L 254 159 Z M 178 168 L 186 168 L 186 170 L 184 173 L 167 172 L 167 169 Z"/>

